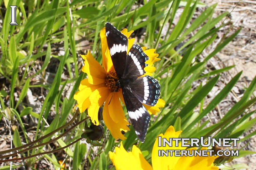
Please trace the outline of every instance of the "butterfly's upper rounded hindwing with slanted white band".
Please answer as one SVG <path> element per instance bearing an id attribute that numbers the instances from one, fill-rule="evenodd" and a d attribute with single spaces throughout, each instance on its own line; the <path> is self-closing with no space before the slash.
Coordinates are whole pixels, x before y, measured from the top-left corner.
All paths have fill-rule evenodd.
<path id="1" fill-rule="evenodd" d="M 134 44 L 126 57 L 126 66 L 124 68 L 123 77 L 140 77 L 145 74 L 144 68 L 148 66 L 145 61 L 149 60 L 148 56 L 143 52 L 142 48 Z"/>

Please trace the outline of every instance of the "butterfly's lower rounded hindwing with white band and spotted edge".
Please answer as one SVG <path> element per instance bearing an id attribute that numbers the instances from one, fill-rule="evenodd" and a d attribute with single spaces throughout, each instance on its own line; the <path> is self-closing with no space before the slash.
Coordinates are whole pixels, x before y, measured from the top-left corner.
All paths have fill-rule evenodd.
<path id="1" fill-rule="evenodd" d="M 130 90 L 138 100 L 146 105 L 155 106 L 160 96 L 160 84 L 153 77 L 146 75 L 129 84 Z"/>

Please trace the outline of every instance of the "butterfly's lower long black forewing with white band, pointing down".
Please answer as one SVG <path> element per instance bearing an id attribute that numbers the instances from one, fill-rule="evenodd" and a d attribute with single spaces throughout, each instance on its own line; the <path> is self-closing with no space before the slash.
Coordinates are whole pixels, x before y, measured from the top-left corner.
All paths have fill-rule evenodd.
<path id="1" fill-rule="evenodd" d="M 143 104 L 129 89 L 123 89 L 123 97 L 135 134 L 141 142 L 144 142 L 149 126 L 150 115 Z"/>

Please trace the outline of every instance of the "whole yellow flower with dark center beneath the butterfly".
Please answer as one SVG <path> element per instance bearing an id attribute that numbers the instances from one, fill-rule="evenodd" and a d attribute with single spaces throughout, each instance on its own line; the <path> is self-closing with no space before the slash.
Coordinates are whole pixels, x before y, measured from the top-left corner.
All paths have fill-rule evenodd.
<path id="1" fill-rule="evenodd" d="M 127 32 L 127 29 L 122 30 L 122 33 L 129 38 L 133 31 Z M 85 60 L 82 72 L 87 73 L 88 78 L 81 81 L 79 91 L 74 95 L 74 99 L 77 101 L 77 107 L 80 112 L 84 112 L 88 109 L 88 115 L 95 125 L 99 124 L 98 110 L 105 102 L 103 107 L 103 120 L 107 128 L 110 130 L 112 136 L 117 139 L 124 140 L 121 131 L 127 131 L 129 125 L 126 117 L 124 116 L 123 108 L 120 100 L 124 103 L 122 90 L 115 91 L 113 86 L 115 84 L 114 79 L 118 79 L 113 67 L 110 51 L 107 45 L 106 29 L 103 28 L 100 33 L 101 37 L 101 50 L 102 50 L 102 66 L 98 63 L 94 57 L 88 51 L 87 55 L 81 55 Z M 128 51 L 132 47 L 134 39 L 128 39 Z M 146 50 L 142 47 L 144 53 L 149 57 L 146 61 L 148 64 L 144 68 L 145 75 L 152 75 L 155 71 L 153 63 L 160 60 L 155 49 Z M 109 103 L 109 104 L 108 104 Z M 159 99 L 155 106 L 145 106 L 149 114 L 156 114 L 159 112 L 160 107 L 164 107 L 165 102 Z"/>

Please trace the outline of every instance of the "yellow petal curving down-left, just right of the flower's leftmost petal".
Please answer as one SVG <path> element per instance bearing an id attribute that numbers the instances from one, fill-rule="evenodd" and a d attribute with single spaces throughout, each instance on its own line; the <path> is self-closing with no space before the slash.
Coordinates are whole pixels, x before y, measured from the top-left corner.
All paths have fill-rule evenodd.
<path id="1" fill-rule="evenodd" d="M 106 101 L 109 94 L 110 90 L 107 87 L 103 86 L 94 90 L 89 97 L 91 106 L 88 107 L 88 115 L 90 116 L 92 123 L 94 123 L 95 125 L 99 125 L 98 110 Z"/>

